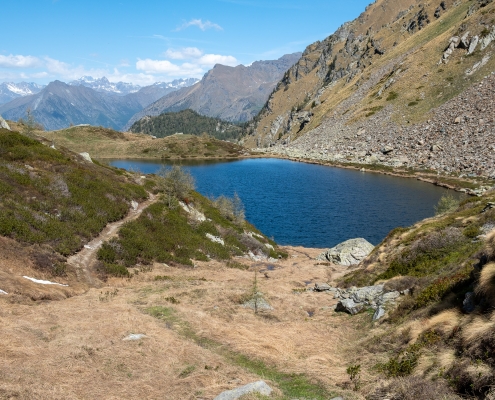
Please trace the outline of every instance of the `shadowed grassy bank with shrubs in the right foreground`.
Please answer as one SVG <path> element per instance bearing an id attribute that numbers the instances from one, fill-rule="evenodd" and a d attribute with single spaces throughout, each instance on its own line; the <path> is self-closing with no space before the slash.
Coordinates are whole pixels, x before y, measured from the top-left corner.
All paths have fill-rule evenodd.
<path id="1" fill-rule="evenodd" d="M 359 362 L 384 380 L 382 394 L 416 387 L 426 398 L 493 395 L 494 200 L 492 190 L 393 230 L 360 268 L 340 279 L 344 287 L 383 283 L 409 290 L 361 343 Z"/>

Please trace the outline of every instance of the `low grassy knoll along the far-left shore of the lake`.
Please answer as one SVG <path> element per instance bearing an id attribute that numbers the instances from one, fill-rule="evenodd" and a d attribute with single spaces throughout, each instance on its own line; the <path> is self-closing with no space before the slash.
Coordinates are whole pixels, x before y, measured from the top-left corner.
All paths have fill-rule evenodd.
<path id="1" fill-rule="evenodd" d="M 123 133 L 95 126 L 77 126 L 38 132 L 56 147 L 103 158 L 237 158 L 248 153 L 242 146 L 202 135 L 173 135 L 153 139 L 149 135 Z"/>

